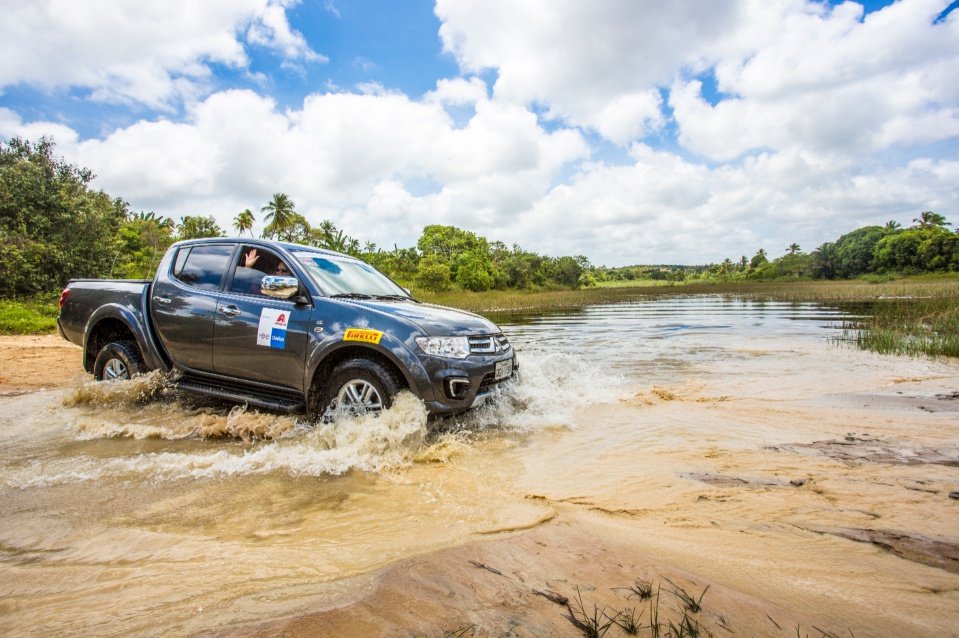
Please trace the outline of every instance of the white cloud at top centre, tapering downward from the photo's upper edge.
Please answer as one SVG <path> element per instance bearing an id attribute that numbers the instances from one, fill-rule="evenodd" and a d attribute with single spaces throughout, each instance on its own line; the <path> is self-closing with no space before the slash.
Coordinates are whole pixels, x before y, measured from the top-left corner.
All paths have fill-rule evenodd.
<path id="1" fill-rule="evenodd" d="M 438 0 L 436 13 L 465 70 L 497 71 L 497 97 L 625 143 L 662 126 L 655 87 L 729 28 L 738 4 Z"/>

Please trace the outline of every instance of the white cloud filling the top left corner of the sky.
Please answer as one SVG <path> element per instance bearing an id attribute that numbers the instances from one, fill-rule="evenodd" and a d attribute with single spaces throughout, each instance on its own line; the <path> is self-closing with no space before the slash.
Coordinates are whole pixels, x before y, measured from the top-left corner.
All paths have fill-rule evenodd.
<path id="1" fill-rule="evenodd" d="M 211 64 L 249 63 L 238 34 L 291 60 L 323 59 L 272 0 L 2 2 L 0 87 L 82 88 L 169 108 L 206 90 Z"/>

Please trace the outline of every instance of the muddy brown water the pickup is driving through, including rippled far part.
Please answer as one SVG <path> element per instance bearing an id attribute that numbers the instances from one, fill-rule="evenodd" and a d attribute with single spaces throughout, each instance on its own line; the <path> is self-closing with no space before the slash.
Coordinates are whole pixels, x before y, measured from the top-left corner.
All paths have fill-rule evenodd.
<path id="1" fill-rule="evenodd" d="M 308 428 L 160 378 L 0 398 L 0 632 L 242 627 L 562 523 L 835 631 L 953 635 L 959 365 L 837 347 L 841 317 L 705 297 L 495 317 L 520 382 L 439 424 L 407 396 Z"/>

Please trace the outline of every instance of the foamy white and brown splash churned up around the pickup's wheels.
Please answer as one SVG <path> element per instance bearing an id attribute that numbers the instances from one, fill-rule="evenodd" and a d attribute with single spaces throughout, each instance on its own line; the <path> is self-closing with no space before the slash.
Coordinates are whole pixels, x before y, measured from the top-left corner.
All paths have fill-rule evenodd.
<path id="1" fill-rule="evenodd" d="M 81 380 L 64 398 L 80 441 L 157 439 L 160 451 L 84 454 L 8 468 L 9 486 L 29 487 L 103 477 L 151 480 L 215 478 L 285 472 L 339 475 L 351 470 L 388 472 L 413 463 L 445 463 L 481 430 L 530 432 L 574 427 L 576 410 L 624 395 L 622 379 L 577 357 L 523 356 L 518 380 L 478 410 L 431 422 L 422 401 L 397 395 L 378 417 L 311 424 L 245 406 L 195 407 L 172 391 L 169 377 L 153 373 L 126 382 Z M 181 445 L 172 445 L 181 442 Z"/>

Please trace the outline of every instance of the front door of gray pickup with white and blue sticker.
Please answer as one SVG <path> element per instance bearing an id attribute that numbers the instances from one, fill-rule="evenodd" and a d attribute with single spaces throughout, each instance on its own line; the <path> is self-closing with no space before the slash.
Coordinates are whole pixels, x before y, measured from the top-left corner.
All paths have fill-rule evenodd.
<path id="1" fill-rule="evenodd" d="M 252 249 L 238 251 L 217 304 L 213 368 L 217 374 L 303 391 L 313 309 L 262 294 L 259 281 L 285 264 L 276 253 L 256 247 L 258 259 L 246 267 Z"/>

